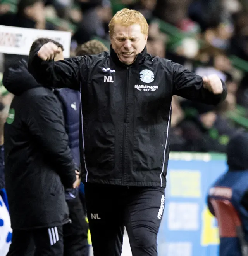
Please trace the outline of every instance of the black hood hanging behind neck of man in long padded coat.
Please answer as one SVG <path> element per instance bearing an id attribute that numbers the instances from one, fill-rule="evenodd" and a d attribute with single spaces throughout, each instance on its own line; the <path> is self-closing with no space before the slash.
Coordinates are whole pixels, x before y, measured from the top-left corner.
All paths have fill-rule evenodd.
<path id="1" fill-rule="evenodd" d="M 3 85 L 10 93 L 18 96 L 29 89 L 40 87 L 41 85 L 28 72 L 27 62 L 17 61 L 3 73 Z"/>

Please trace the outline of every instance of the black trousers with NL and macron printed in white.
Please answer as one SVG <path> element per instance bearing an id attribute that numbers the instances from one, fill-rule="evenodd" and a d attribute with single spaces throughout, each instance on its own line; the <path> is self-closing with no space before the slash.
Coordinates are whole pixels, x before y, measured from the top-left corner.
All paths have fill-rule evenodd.
<path id="1" fill-rule="evenodd" d="M 120 256 L 124 226 L 133 256 L 157 256 L 164 188 L 85 184 L 94 256 Z"/>

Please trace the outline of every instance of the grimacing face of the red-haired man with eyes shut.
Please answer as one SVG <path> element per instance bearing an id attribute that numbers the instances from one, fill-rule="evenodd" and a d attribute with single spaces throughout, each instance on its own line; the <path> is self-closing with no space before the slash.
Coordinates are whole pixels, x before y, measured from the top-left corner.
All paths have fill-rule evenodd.
<path id="1" fill-rule="evenodd" d="M 145 48 L 147 35 L 141 32 L 139 24 L 131 26 L 116 24 L 110 41 L 119 60 L 129 65 Z"/>

